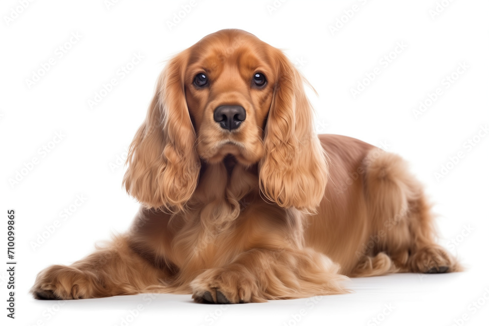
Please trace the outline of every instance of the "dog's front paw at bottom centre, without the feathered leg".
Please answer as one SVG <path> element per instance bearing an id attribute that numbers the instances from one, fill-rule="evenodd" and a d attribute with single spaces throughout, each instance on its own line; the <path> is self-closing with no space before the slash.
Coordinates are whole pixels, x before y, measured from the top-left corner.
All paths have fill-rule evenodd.
<path id="1" fill-rule="evenodd" d="M 213 268 L 200 274 L 192 283 L 192 298 L 198 303 L 241 304 L 266 302 L 258 280 L 246 270 Z"/>

